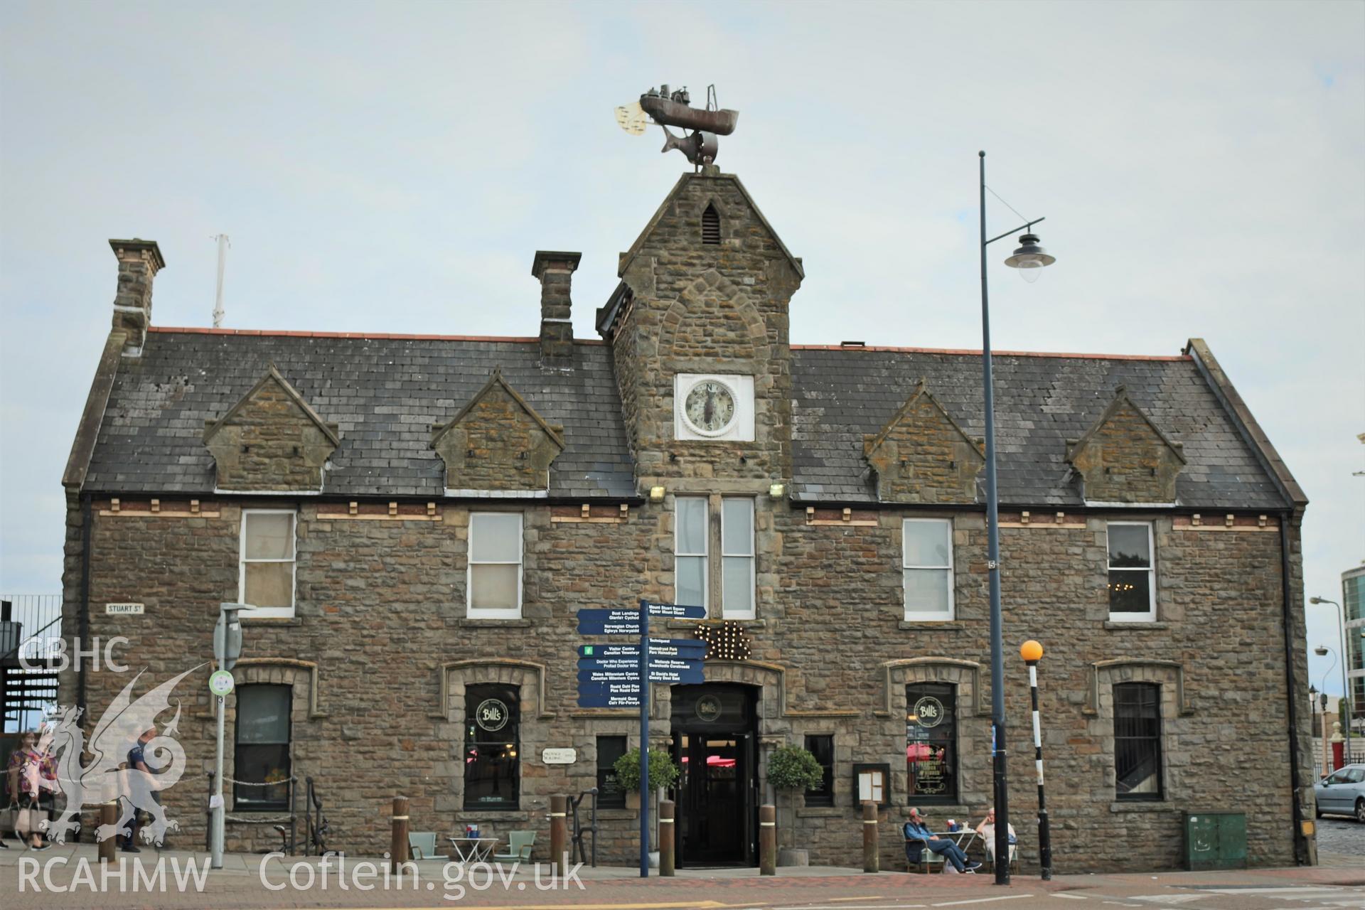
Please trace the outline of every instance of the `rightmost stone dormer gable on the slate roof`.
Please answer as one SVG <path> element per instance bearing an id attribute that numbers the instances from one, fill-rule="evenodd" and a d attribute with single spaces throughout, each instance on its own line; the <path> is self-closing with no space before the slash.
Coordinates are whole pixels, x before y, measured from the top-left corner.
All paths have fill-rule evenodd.
<path id="1" fill-rule="evenodd" d="M 1182 447 L 1118 386 L 1085 435 L 1067 441 L 1066 460 L 1081 476 L 1087 502 L 1173 503 Z"/>

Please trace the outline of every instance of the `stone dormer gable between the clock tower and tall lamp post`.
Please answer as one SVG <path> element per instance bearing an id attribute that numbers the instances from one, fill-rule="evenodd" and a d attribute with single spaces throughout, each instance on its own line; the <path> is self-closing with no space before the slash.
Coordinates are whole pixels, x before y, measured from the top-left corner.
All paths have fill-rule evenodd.
<path id="1" fill-rule="evenodd" d="M 863 439 L 863 456 L 876 472 L 882 502 L 976 502 L 976 475 L 986 464 L 980 442 L 930 394 L 924 379 L 880 432 Z"/>

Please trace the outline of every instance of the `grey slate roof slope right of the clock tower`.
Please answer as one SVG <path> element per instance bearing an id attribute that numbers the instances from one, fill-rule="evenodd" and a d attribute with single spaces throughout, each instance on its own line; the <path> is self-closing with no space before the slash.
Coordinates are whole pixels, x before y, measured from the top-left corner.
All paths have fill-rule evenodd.
<path id="1" fill-rule="evenodd" d="M 1001 355 L 995 374 L 995 447 L 1002 503 L 1084 505 L 1066 463 L 1119 385 L 1171 438 L 1188 464 L 1177 502 L 1190 508 L 1290 505 L 1244 442 L 1189 356 Z M 792 486 L 797 499 L 875 502 L 863 437 L 886 426 L 923 377 L 968 435 L 986 435 L 981 357 L 976 352 L 876 348 L 792 349 Z M 979 502 L 986 501 L 984 471 Z"/>

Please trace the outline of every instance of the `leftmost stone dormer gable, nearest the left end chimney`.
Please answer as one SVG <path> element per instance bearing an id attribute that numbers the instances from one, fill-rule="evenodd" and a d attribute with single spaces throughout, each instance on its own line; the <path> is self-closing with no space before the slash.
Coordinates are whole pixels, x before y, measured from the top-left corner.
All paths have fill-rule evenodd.
<path id="1" fill-rule="evenodd" d="M 227 413 L 205 422 L 203 445 L 218 490 L 317 493 L 341 438 L 272 363 Z"/>

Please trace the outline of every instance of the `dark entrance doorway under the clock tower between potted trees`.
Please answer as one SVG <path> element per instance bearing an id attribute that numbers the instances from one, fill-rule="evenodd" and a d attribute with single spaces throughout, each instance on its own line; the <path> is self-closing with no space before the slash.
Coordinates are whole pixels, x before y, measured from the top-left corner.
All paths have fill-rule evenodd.
<path id="1" fill-rule="evenodd" d="M 755 865 L 758 689 L 673 686 L 678 866 Z"/>

